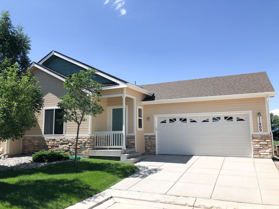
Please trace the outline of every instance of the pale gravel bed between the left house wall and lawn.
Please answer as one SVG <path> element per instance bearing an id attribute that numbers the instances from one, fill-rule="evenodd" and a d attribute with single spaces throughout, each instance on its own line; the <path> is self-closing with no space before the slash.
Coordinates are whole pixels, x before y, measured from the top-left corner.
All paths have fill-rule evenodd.
<path id="1" fill-rule="evenodd" d="M 32 154 L 20 154 L 13 155 L 10 158 L 0 159 L 0 171 L 6 170 L 24 170 L 28 168 L 42 167 L 47 165 L 53 165 L 56 163 L 67 162 L 65 161 L 55 161 L 49 163 L 41 163 L 41 162 L 32 162 Z"/>

